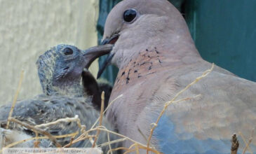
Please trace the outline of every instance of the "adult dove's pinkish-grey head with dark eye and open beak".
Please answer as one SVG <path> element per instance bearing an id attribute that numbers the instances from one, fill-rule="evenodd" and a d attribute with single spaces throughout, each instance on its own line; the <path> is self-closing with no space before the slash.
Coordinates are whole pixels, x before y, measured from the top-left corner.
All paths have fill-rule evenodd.
<path id="1" fill-rule="evenodd" d="M 184 18 L 167 0 L 121 1 L 107 17 L 102 43 L 114 48 L 99 73 L 110 61 L 121 69 L 140 51 L 155 47 L 173 57 L 184 50 L 198 55 Z"/>

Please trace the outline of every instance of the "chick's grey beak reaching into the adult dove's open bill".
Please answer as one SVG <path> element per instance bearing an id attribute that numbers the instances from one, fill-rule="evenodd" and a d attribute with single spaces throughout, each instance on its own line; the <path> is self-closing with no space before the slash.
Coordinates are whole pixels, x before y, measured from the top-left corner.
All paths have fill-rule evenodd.
<path id="1" fill-rule="evenodd" d="M 97 45 L 92 48 L 88 48 L 87 50 L 83 50 L 83 57 L 86 59 L 86 69 L 89 68 L 90 64 L 97 58 L 102 55 L 107 55 L 113 48 L 112 44 L 106 45 Z"/>

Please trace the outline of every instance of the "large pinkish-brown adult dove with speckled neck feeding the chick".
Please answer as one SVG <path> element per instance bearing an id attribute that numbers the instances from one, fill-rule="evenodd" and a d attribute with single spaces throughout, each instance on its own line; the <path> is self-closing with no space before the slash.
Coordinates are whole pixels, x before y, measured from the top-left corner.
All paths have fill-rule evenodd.
<path id="1" fill-rule="evenodd" d="M 166 0 L 118 3 L 107 17 L 102 43 L 114 48 L 99 76 L 110 62 L 119 67 L 109 101 L 123 94 L 107 118 L 142 144 L 164 104 L 212 65 L 199 55 L 184 18 Z M 250 139 L 256 125 L 255 82 L 215 66 L 176 100 L 184 98 L 191 99 L 170 104 L 153 132 L 151 146 L 159 152 L 230 153 L 234 133 Z M 242 153 L 245 144 L 238 139 Z M 247 149 L 256 152 L 256 139 Z"/>

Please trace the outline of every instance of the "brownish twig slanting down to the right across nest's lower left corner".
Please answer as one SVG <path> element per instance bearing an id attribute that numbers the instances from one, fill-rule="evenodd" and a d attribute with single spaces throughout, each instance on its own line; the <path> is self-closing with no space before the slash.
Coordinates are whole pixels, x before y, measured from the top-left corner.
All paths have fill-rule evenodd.
<path id="1" fill-rule="evenodd" d="M 29 125 L 27 123 L 23 123 L 22 121 L 17 120 L 15 118 L 9 118 L 8 120 L 12 121 L 13 123 L 18 123 L 19 125 L 27 127 L 29 129 L 33 130 L 34 132 L 39 132 L 40 134 L 46 135 L 50 139 L 50 141 L 52 141 L 53 144 L 55 144 L 55 146 L 57 146 L 58 148 L 61 147 L 61 145 L 58 143 L 57 139 L 55 137 L 53 137 L 50 133 L 48 133 L 44 130 L 41 130 L 40 128 L 36 128 L 32 125 Z"/>

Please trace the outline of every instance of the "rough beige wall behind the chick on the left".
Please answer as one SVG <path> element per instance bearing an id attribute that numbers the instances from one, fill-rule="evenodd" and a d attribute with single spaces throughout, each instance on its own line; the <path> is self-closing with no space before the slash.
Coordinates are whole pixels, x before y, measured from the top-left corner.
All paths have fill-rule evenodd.
<path id="1" fill-rule="evenodd" d="M 18 99 L 41 93 L 35 62 L 50 47 L 97 44 L 97 0 L 0 0 L 0 10 L 0 104 L 12 101 L 22 69 Z"/>

